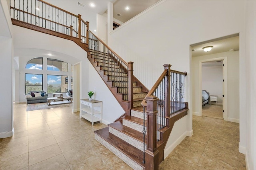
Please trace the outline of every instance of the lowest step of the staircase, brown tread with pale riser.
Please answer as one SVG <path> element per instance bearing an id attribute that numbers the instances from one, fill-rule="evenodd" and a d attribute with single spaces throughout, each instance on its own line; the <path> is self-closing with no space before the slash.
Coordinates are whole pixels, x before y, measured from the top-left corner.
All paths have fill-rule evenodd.
<path id="1" fill-rule="evenodd" d="M 108 131 L 108 127 L 94 131 L 95 139 L 135 170 L 143 170 L 143 152 Z"/>

